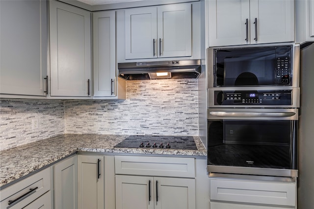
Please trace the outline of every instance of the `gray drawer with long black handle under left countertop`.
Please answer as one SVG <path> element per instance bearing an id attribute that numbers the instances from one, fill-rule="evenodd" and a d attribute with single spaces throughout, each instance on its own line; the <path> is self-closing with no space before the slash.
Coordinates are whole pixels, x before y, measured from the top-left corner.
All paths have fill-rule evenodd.
<path id="1" fill-rule="evenodd" d="M 1 190 L 0 208 L 21 209 L 44 193 L 46 193 L 47 191 L 49 191 L 51 188 L 50 172 L 51 168 L 46 168 L 45 170 L 35 173 L 34 175 L 31 175 L 26 179 Z M 34 190 L 30 192 L 30 189 Z M 26 194 L 27 192 L 30 193 Z M 13 201 L 19 197 L 22 198 L 9 205 L 9 200 Z"/>

